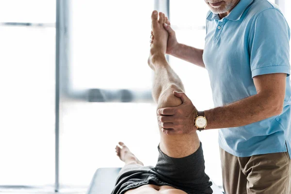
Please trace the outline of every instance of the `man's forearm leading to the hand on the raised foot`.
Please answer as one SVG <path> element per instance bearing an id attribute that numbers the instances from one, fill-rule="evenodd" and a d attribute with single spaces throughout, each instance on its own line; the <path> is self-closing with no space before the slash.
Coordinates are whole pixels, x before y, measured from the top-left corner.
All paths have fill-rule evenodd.
<path id="1" fill-rule="evenodd" d="M 170 54 L 179 59 L 205 68 L 202 57 L 203 49 L 196 49 L 187 45 L 178 44 L 177 48 L 175 48 Z"/>

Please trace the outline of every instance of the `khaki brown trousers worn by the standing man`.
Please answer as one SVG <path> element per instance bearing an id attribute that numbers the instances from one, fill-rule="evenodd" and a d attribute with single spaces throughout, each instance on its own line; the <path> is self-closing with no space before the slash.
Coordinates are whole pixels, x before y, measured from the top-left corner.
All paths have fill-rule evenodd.
<path id="1" fill-rule="evenodd" d="M 291 194 L 288 152 L 236 157 L 220 148 L 226 194 Z"/>

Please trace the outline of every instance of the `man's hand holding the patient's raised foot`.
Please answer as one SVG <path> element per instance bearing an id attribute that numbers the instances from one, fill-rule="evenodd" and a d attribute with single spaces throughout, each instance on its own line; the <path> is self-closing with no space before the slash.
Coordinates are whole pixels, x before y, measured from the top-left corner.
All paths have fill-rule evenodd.
<path id="1" fill-rule="evenodd" d="M 169 34 L 168 41 L 167 41 L 166 54 L 172 55 L 174 53 L 174 51 L 177 50 L 179 43 L 178 43 L 177 38 L 176 38 L 176 32 L 171 28 L 171 23 L 168 20 L 168 17 L 165 17 L 165 18 L 166 18 L 166 22 L 163 24 L 163 27 Z M 150 38 L 151 38 L 150 43 L 152 44 L 153 40 L 155 38 L 153 35 L 153 32 L 151 32 Z"/>

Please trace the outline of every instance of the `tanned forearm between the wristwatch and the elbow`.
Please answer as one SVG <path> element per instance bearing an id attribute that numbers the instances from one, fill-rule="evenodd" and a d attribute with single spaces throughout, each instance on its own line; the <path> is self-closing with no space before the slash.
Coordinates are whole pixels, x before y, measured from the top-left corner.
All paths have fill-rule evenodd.
<path id="1" fill-rule="evenodd" d="M 283 104 L 274 103 L 272 96 L 257 94 L 237 102 L 205 111 L 206 129 L 240 127 L 282 112 Z"/>

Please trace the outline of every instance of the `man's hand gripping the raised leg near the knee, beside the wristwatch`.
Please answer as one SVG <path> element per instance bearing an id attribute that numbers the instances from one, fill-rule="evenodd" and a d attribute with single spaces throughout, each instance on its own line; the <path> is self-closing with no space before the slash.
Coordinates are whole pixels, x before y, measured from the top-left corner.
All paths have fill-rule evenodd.
<path id="1" fill-rule="evenodd" d="M 158 110 L 158 121 L 165 134 L 187 134 L 196 129 L 194 120 L 197 109 L 191 100 L 182 92 L 174 92 L 176 97 L 182 100 L 182 104 L 173 108 L 162 108 Z"/>

